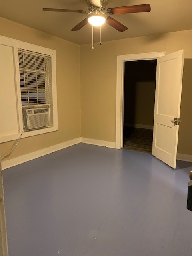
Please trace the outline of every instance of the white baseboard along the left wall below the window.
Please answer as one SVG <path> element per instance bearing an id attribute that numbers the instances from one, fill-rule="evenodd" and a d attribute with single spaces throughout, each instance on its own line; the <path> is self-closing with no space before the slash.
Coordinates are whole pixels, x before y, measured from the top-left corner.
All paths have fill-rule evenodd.
<path id="1" fill-rule="evenodd" d="M 2 161 L 2 169 L 4 170 L 4 169 L 10 168 L 12 166 L 22 164 L 24 162 L 33 160 L 33 159 L 38 158 L 40 156 L 45 156 L 45 155 L 50 154 L 52 152 L 58 151 L 60 149 L 73 146 L 73 145 L 78 144 L 80 142 L 81 142 L 81 138 L 76 138 L 76 139 L 73 139 L 73 140 L 69 140 L 69 141 L 54 145 L 54 146 L 50 146 L 48 148 L 43 148 L 41 150 L 26 154 L 26 155 L 23 155 L 23 156 L 18 156 L 16 158 L 12 158 L 10 160 Z"/>

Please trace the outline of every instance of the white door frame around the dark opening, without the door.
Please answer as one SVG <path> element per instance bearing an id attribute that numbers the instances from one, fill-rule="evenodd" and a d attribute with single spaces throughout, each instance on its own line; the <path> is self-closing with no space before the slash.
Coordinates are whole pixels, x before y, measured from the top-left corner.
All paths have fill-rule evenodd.
<path id="1" fill-rule="evenodd" d="M 133 60 L 156 60 L 166 52 L 148 52 L 117 56 L 117 87 L 116 87 L 116 130 L 115 148 L 123 147 L 123 105 L 124 105 L 124 63 Z"/>

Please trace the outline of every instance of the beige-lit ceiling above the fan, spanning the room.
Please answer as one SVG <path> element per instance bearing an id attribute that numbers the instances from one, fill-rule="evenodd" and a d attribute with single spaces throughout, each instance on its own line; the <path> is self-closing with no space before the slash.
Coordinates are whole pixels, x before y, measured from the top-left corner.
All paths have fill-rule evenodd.
<path id="1" fill-rule="evenodd" d="M 108 24 L 102 27 L 102 41 L 192 29 L 192 0 L 108 0 L 107 8 L 150 4 L 151 12 L 113 15 L 128 27 L 118 32 Z M 71 31 L 88 14 L 44 12 L 42 8 L 86 10 L 86 0 L 1 0 L 0 16 L 58 36 L 76 44 L 92 42 L 92 27 L 86 24 Z M 100 30 L 95 29 L 94 42 L 99 42 Z"/>

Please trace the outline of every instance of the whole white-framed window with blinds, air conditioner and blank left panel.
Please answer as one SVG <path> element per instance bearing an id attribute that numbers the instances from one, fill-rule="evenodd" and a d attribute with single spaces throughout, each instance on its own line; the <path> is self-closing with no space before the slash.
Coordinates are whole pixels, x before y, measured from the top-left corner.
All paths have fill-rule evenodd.
<path id="1" fill-rule="evenodd" d="M 0 36 L 0 54 L 0 143 L 58 130 L 55 50 Z"/>

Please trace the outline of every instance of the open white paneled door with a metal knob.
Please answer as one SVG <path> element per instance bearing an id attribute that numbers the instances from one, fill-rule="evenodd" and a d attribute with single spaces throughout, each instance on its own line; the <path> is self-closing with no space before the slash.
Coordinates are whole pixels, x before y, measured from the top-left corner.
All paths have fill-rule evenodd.
<path id="1" fill-rule="evenodd" d="M 184 50 L 157 60 L 152 154 L 176 168 Z M 181 124 L 182 125 L 182 124 Z"/>

